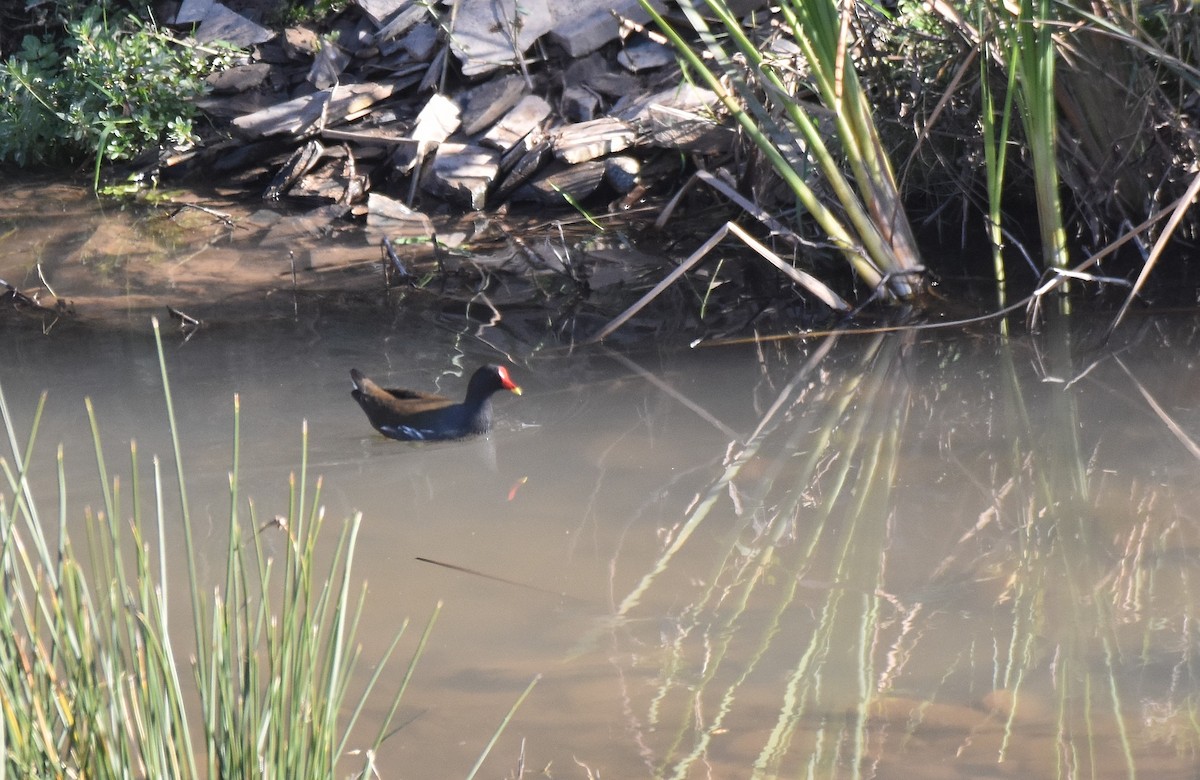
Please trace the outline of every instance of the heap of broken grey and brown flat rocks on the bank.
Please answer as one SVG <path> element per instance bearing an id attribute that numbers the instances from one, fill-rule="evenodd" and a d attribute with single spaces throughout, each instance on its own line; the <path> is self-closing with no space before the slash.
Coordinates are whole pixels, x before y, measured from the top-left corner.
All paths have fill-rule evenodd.
<path id="1" fill-rule="evenodd" d="M 678 170 L 678 150 L 732 137 L 646 19 L 637 0 L 356 0 L 323 29 L 276 35 L 185 0 L 175 20 L 202 43 L 252 54 L 202 101 L 224 139 L 178 163 L 269 176 L 268 199 L 365 212 L 400 236 L 430 235 L 421 210 L 443 203 L 628 206 Z"/>

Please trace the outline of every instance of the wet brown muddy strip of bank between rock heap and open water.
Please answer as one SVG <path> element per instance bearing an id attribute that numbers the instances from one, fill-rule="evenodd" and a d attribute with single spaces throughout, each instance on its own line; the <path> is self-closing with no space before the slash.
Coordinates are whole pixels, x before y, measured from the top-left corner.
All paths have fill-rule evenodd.
<path id="1" fill-rule="evenodd" d="M 605 230 L 582 218 L 445 215 L 436 242 L 384 244 L 354 220 L 316 229 L 311 215 L 277 204 L 199 191 L 172 199 L 114 205 L 82 184 L 0 185 L 0 326 L 54 336 L 142 329 L 154 316 L 192 335 L 355 308 L 377 312 L 380 328 L 421 312 L 456 329 L 506 329 L 523 343 L 575 341 L 658 281 L 666 263 L 664 252 L 635 246 L 636 215 Z M 690 298 L 662 302 L 680 324 L 695 322 Z"/>

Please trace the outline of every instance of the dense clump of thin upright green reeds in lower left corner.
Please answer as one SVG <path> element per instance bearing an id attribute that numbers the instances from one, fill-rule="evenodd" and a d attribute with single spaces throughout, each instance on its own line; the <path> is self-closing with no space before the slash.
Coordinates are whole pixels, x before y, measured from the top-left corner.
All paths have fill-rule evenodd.
<path id="1" fill-rule="evenodd" d="M 133 478 L 125 482 L 106 462 L 100 415 L 85 402 L 102 506 L 85 512 L 80 558 L 68 522 L 64 448 L 56 451 L 56 545 L 26 478 L 46 396 L 22 448 L 0 390 L 0 424 L 12 451 L 12 462 L 0 458 L 7 487 L 0 492 L 0 776 L 335 776 L 366 697 L 386 677 L 377 667 L 361 698 L 349 700 L 366 593 L 350 598 L 360 518 L 343 527 L 332 551 L 319 546 L 320 480 L 310 491 L 301 472 L 299 490 L 293 478 L 292 514 L 264 528 L 287 535 L 283 565 L 272 565 L 263 532 L 245 539 L 235 398 L 227 569 L 205 596 L 157 323 L 155 340 L 188 558 L 187 574 L 179 576 L 192 600 L 196 686 L 185 686 L 168 618 L 168 534 L 179 523 L 167 510 L 158 458 L 151 458 L 154 500 L 144 505 L 137 444 L 130 445 Z M 152 506 L 152 520 L 145 506 Z M 330 569 L 318 571 L 330 552 Z M 397 707 L 392 700 L 391 714 Z"/>

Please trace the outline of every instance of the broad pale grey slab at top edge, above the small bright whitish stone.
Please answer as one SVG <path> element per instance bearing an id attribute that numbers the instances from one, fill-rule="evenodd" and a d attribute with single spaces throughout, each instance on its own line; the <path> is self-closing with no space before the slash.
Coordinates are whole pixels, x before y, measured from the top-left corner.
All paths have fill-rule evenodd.
<path id="1" fill-rule="evenodd" d="M 480 76 L 521 62 L 557 22 L 551 0 L 460 0 L 450 48 L 463 76 Z"/>

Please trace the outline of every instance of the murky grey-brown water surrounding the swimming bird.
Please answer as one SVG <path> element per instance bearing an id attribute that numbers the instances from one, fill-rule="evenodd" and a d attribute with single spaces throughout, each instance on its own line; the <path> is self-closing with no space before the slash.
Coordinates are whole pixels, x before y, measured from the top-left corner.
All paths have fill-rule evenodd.
<path id="1" fill-rule="evenodd" d="M 130 438 L 169 463 L 149 324 L 4 328 L 19 428 L 49 391 L 47 500 L 60 442 L 70 515 L 97 500 L 84 397 L 112 470 Z M 1193 778 L 1198 332 L 568 353 L 365 311 L 172 334 L 167 361 L 212 566 L 236 392 L 262 517 L 301 420 L 326 514 L 364 515 L 360 677 L 444 602 L 384 776 L 464 775 L 541 676 L 487 776 L 523 750 L 526 776 Z M 349 397 L 350 367 L 458 395 L 445 372 L 498 360 L 526 392 L 486 439 L 386 440 Z"/>

